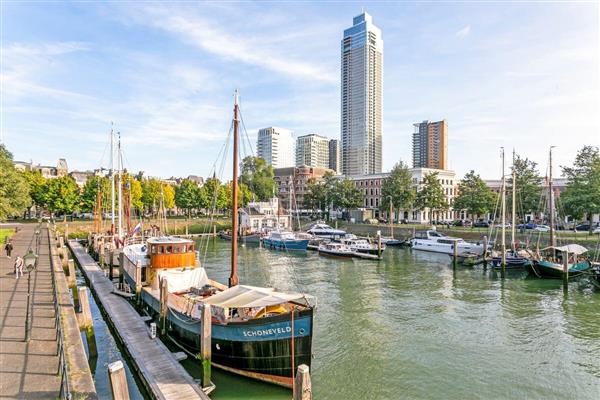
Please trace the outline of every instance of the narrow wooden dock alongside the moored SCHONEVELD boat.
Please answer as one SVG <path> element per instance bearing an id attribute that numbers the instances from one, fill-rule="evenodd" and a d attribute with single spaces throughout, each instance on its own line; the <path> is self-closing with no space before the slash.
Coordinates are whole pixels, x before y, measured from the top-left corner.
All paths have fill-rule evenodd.
<path id="1" fill-rule="evenodd" d="M 112 293 L 113 284 L 79 242 L 70 240 L 81 271 L 109 316 L 109 323 L 135 364 L 147 391 L 156 399 L 209 399 L 200 386 L 160 341 L 151 339 L 144 320 L 123 297 Z"/>

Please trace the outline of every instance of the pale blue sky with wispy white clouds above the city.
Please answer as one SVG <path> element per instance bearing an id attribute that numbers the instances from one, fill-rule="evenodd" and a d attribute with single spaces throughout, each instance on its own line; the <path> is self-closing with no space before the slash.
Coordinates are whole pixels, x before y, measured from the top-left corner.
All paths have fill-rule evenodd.
<path id="1" fill-rule="evenodd" d="M 597 1 L 0 4 L 0 128 L 16 160 L 107 167 L 112 122 L 127 169 L 207 176 L 236 88 L 253 147 L 267 126 L 339 138 L 340 40 L 363 9 L 384 40 L 384 170 L 411 163 L 423 120 L 448 121 L 459 177 L 499 178 L 501 146 L 542 173 L 550 145 L 555 165 L 600 146 Z"/>

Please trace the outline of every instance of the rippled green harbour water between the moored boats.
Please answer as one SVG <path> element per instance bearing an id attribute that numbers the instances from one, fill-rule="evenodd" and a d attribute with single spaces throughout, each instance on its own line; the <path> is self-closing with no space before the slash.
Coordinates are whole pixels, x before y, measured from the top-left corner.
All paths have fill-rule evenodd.
<path id="1" fill-rule="evenodd" d="M 229 242 L 210 242 L 209 277 L 227 282 Z M 381 262 L 240 248 L 240 283 L 318 298 L 315 399 L 598 399 L 600 290 L 453 271 L 446 255 L 388 248 Z M 196 376 L 192 361 L 186 368 Z M 289 399 L 213 370 L 214 400 Z"/>

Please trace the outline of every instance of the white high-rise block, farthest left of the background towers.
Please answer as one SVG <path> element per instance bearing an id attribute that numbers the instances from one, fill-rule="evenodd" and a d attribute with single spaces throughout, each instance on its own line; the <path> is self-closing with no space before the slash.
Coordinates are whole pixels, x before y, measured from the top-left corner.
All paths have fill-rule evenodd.
<path id="1" fill-rule="evenodd" d="M 256 153 L 273 168 L 293 167 L 295 165 L 293 132 L 277 127 L 260 129 Z"/>

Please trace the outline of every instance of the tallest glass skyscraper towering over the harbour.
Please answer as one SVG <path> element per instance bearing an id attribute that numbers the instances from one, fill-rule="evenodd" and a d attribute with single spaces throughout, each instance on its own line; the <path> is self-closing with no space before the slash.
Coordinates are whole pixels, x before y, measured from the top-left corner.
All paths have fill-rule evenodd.
<path id="1" fill-rule="evenodd" d="M 383 39 L 363 13 L 342 39 L 341 172 L 381 172 Z"/>

